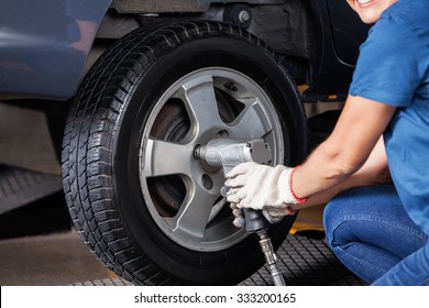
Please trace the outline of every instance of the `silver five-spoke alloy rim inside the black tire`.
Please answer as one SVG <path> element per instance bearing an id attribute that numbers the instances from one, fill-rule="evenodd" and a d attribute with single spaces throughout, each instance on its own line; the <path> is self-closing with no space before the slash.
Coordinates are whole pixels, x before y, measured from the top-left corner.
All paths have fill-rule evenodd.
<path id="1" fill-rule="evenodd" d="M 143 131 L 140 180 L 157 227 L 175 243 L 200 252 L 233 246 L 248 234 L 232 226 L 219 194 L 221 168 L 194 157 L 194 150 L 217 138 L 263 138 L 273 163 L 284 157 L 284 135 L 264 90 L 229 68 L 193 72 L 157 100 Z"/>

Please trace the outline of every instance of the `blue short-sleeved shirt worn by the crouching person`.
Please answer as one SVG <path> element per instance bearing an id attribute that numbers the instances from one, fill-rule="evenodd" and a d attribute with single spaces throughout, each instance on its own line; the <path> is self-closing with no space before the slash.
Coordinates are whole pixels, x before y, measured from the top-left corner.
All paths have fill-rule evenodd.
<path id="1" fill-rule="evenodd" d="M 399 0 L 383 13 L 350 94 L 398 108 L 384 133 L 388 165 L 405 209 L 429 234 L 429 0 Z"/>

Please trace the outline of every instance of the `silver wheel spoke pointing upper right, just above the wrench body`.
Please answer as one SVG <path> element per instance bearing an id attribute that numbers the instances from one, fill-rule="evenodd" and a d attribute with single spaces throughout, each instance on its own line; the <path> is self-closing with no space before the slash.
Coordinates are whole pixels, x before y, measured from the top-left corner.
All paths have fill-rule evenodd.
<path id="1" fill-rule="evenodd" d="M 239 117 L 230 123 L 232 138 L 262 138 L 273 130 L 271 122 L 267 121 L 260 100 L 245 102 L 244 110 Z"/>

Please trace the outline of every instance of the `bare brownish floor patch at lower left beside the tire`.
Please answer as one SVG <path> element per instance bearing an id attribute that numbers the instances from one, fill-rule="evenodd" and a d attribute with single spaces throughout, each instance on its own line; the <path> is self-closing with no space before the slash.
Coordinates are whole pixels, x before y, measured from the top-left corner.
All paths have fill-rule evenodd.
<path id="1" fill-rule="evenodd" d="M 70 285 L 116 278 L 74 232 L 0 242 L 0 285 Z"/>

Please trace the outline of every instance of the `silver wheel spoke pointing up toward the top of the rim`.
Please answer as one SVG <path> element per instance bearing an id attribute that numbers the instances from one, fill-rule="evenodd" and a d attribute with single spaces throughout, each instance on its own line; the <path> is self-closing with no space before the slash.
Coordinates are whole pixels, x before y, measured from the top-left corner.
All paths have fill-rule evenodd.
<path id="1" fill-rule="evenodd" d="M 216 127 L 224 127 L 219 116 L 211 76 L 199 76 L 184 84 L 176 97 L 185 102 L 197 135 Z"/>

